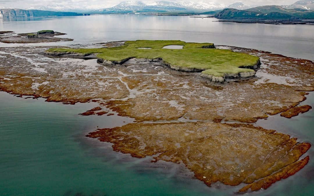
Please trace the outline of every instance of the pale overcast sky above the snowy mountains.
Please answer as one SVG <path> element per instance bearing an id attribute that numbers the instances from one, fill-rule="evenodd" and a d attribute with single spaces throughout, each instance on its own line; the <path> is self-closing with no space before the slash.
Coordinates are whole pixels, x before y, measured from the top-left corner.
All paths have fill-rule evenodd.
<path id="1" fill-rule="evenodd" d="M 0 0 L 0 7 L 10 8 L 29 8 L 31 6 L 60 4 L 60 5 L 76 5 L 76 6 L 88 6 L 88 5 L 100 5 L 110 7 L 122 2 L 123 0 Z M 168 0 L 172 1 L 172 0 Z M 189 0 L 179 0 L 189 1 Z M 191 0 L 194 2 L 204 2 L 204 0 Z M 205 0 L 206 1 L 206 0 Z M 221 3 L 230 5 L 232 3 L 241 2 L 246 5 L 290 5 L 297 0 L 208 0 L 207 2 Z M 151 0 L 143 0 L 144 3 L 151 3 Z"/>

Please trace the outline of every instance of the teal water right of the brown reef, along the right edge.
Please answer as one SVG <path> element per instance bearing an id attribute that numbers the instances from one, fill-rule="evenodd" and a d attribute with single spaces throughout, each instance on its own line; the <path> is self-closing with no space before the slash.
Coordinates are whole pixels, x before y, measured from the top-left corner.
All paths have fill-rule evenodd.
<path id="1" fill-rule="evenodd" d="M 307 99 L 300 105 L 314 106 L 314 92 L 306 96 Z M 314 108 L 314 107 L 313 107 Z M 288 134 L 298 138 L 298 142 L 309 142 L 312 147 L 303 155 L 310 156 L 308 164 L 292 177 L 288 177 L 273 184 L 273 187 L 266 190 L 269 195 L 313 195 L 314 194 L 314 110 L 299 114 L 298 116 L 287 119 L 279 114 L 268 117 L 267 120 L 259 120 L 256 123 L 266 129 L 277 130 L 280 133 Z M 268 192 L 269 191 L 269 192 Z"/>

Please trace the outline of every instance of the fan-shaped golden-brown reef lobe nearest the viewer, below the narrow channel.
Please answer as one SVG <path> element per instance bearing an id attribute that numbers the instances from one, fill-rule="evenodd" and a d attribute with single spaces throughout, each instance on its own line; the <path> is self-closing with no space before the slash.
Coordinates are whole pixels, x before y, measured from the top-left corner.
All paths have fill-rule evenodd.
<path id="1" fill-rule="evenodd" d="M 156 155 L 155 161 L 182 162 L 208 186 L 218 181 L 250 184 L 239 192 L 266 189 L 293 175 L 307 163 L 297 161 L 311 147 L 274 130 L 206 122 L 133 123 L 87 136 L 111 142 L 115 151 L 134 157 Z M 272 183 L 264 183 L 266 179 Z"/>

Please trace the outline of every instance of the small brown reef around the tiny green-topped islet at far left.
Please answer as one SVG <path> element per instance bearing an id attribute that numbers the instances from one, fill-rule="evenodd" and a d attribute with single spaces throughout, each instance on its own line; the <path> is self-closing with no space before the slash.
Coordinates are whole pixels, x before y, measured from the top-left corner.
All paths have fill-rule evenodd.
<path id="1" fill-rule="evenodd" d="M 73 41 L 73 39 L 69 39 L 69 38 L 54 37 L 57 35 L 66 35 L 66 34 L 54 32 L 54 31 L 50 31 L 50 32 L 39 31 L 36 33 L 15 34 L 12 31 L 6 31 L 6 33 L 4 33 L 4 35 L 0 37 L 0 42 L 7 43 L 7 44 L 17 44 L 17 43 L 24 44 L 24 43 Z"/>

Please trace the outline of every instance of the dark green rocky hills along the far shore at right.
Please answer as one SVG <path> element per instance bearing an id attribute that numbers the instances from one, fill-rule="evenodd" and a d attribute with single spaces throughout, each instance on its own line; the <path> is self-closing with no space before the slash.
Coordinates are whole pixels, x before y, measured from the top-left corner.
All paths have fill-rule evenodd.
<path id="1" fill-rule="evenodd" d="M 223 9 L 215 15 L 218 19 L 314 19 L 314 10 L 285 9 L 268 5 L 245 10 Z"/>

